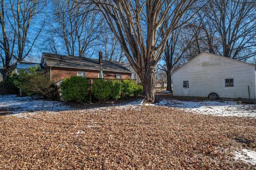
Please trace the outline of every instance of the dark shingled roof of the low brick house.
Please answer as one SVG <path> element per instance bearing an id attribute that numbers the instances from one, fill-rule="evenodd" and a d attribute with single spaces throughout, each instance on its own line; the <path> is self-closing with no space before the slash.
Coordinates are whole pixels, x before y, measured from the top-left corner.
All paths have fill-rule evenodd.
<path id="1" fill-rule="evenodd" d="M 122 64 L 111 61 L 103 60 L 102 64 L 100 65 L 99 60 L 97 59 L 80 58 L 78 56 L 52 53 L 43 53 L 42 62 L 43 59 L 45 60 L 46 66 L 50 67 L 78 68 L 86 70 L 100 70 L 100 67 L 102 67 L 103 71 L 131 73 L 131 71 L 122 66 Z"/>

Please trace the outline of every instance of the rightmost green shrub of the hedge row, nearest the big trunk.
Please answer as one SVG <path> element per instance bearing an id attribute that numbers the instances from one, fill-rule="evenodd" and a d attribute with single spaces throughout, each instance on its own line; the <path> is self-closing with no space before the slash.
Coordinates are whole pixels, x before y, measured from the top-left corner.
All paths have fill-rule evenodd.
<path id="1" fill-rule="evenodd" d="M 137 96 L 143 92 L 142 86 L 133 80 L 124 80 L 122 86 L 122 94 L 126 98 L 129 96 L 135 96 L 137 98 Z"/>

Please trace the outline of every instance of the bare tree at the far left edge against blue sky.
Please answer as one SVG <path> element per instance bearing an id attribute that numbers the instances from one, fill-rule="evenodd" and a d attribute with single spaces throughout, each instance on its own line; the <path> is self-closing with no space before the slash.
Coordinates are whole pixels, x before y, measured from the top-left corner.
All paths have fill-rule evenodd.
<path id="1" fill-rule="evenodd" d="M 15 62 L 24 60 L 31 52 L 44 26 L 43 22 L 35 29 L 34 20 L 42 13 L 46 2 L 2 0 L 0 3 L 0 58 L 6 76 L 15 68 Z M 31 30 L 32 25 L 34 30 Z"/>

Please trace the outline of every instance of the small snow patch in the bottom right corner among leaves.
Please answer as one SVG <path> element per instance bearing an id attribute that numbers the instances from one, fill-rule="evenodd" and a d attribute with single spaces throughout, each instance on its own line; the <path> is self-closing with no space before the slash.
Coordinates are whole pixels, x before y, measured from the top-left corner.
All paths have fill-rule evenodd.
<path id="1" fill-rule="evenodd" d="M 242 149 L 241 152 L 235 152 L 236 160 L 243 160 L 246 163 L 256 165 L 256 152 L 252 150 Z"/>

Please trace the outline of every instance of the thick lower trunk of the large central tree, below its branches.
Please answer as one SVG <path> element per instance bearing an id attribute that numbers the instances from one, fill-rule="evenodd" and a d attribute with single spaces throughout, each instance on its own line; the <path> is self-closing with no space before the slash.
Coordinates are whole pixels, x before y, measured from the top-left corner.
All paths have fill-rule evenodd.
<path id="1" fill-rule="evenodd" d="M 155 102 L 155 74 L 155 66 L 147 68 L 146 71 L 142 71 L 140 74 L 140 80 L 143 86 L 143 95 L 146 103 Z"/>

